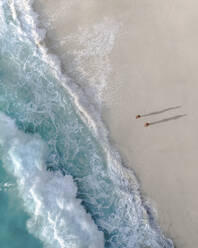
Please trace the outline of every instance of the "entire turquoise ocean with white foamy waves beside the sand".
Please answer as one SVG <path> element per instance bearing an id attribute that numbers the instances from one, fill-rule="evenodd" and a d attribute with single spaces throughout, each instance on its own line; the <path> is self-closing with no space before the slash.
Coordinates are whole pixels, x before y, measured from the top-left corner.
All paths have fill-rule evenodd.
<path id="1" fill-rule="evenodd" d="M 0 1 L 0 246 L 173 247 L 31 4 Z"/>

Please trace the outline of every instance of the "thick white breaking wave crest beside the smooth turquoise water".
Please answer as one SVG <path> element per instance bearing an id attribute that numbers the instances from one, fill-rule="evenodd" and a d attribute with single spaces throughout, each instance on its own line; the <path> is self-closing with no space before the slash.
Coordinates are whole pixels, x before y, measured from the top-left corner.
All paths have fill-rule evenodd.
<path id="1" fill-rule="evenodd" d="M 38 136 L 17 130 L 0 114 L 3 164 L 18 182 L 20 196 L 31 215 L 28 229 L 49 248 L 102 248 L 103 233 L 76 198 L 71 176 L 46 171 L 46 146 Z"/>

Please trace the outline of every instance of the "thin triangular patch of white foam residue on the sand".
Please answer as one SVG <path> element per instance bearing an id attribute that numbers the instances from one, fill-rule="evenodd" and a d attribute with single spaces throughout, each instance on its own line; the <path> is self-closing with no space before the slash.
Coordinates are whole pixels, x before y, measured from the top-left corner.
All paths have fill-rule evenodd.
<path id="1" fill-rule="evenodd" d="M 63 49 L 70 47 L 62 58 L 70 58 L 70 74 L 85 89 L 98 112 L 101 112 L 104 90 L 112 72 L 109 56 L 120 28 L 121 23 L 105 18 L 89 28 L 79 28 L 57 42 Z"/>

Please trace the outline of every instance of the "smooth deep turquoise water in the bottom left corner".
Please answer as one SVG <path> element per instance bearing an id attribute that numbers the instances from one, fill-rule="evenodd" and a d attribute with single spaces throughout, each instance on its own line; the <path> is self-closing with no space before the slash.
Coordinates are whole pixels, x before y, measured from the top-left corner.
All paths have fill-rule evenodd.
<path id="1" fill-rule="evenodd" d="M 29 216 L 16 195 L 16 181 L 6 173 L 2 162 L 0 165 L 0 247 L 43 247 L 38 239 L 28 233 L 26 222 Z"/>

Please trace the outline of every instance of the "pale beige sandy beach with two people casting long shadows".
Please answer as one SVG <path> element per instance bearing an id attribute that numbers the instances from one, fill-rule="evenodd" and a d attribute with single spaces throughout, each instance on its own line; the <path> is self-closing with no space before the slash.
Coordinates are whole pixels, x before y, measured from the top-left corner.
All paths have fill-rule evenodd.
<path id="1" fill-rule="evenodd" d="M 63 71 L 101 101 L 110 139 L 164 233 L 175 247 L 195 248 L 198 3 L 36 0 L 34 8 Z"/>

